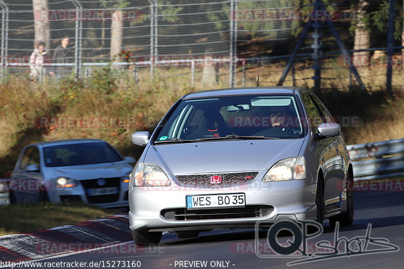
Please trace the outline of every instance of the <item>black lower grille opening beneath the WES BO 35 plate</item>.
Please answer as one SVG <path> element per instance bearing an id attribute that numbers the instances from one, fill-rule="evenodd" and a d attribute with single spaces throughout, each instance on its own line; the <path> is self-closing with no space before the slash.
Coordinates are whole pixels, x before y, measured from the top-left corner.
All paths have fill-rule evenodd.
<path id="1" fill-rule="evenodd" d="M 170 208 L 161 214 L 169 221 L 219 220 L 239 218 L 259 218 L 271 214 L 272 205 L 247 205 L 243 208 L 198 209 Z"/>

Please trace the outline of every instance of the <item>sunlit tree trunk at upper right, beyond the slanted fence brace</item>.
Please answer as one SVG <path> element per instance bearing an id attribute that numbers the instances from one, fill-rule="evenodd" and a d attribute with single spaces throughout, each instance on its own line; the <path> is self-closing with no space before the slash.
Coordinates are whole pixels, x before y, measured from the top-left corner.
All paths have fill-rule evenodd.
<path id="1" fill-rule="evenodd" d="M 366 29 L 366 25 L 362 22 L 366 12 L 366 6 L 369 3 L 366 0 L 359 0 L 357 14 L 357 23 L 354 37 L 354 49 L 368 49 L 370 47 L 370 32 Z M 369 57 L 369 51 L 354 52 L 354 57 Z"/>

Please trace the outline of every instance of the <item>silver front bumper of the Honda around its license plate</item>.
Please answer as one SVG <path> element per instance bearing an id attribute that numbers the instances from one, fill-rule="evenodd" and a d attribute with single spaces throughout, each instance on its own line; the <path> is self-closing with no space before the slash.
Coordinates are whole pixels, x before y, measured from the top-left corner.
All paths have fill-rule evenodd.
<path id="1" fill-rule="evenodd" d="M 260 178 L 260 177 L 258 177 Z M 295 214 L 298 219 L 316 219 L 317 184 L 307 184 L 307 180 L 262 182 L 255 180 L 247 184 L 231 187 L 186 187 L 171 182 L 167 187 L 133 187 L 129 192 L 129 223 L 132 231 L 176 231 L 219 228 L 254 227 L 259 220 L 274 218 L 277 214 Z M 263 217 L 215 219 L 215 209 L 211 219 L 170 220 L 164 215 L 167 210 L 185 210 L 186 196 L 199 194 L 244 193 L 247 206 L 271 206 L 273 210 Z M 222 209 L 223 210 L 223 209 Z M 192 210 L 197 211 L 197 210 Z"/>

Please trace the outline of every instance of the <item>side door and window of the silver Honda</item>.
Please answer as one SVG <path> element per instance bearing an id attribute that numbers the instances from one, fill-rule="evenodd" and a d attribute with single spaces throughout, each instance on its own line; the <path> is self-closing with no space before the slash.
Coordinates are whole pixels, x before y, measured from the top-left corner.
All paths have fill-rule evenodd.
<path id="1" fill-rule="evenodd" d="M 302 101 L 305 104 L 313 133 L 318 133 L 318 127 L 322 123 L 326 123 L 319 106 L 314 102 L 310 93 L 306 92 L 302 95 Z M 320 156 L 320 166 L 324 172 L 324 201 L 326 204 L 326 212 L 332 208 L 339 206 L 338 184 L 340 174 L 336 166 L 339 160 L 337 154 L 338 136 L 318 140 L 316 142 L 316 156 Z"/>

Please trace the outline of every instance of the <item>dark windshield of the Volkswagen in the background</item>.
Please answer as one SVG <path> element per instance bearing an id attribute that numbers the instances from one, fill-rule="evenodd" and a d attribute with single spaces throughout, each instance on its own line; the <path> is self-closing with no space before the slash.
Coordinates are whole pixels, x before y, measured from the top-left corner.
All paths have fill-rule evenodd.
<path id="1" fill-rule="evenodd" d="M 121 156 L 104 142 L 66 144 L 43 149 L 47 167 L 120 162 Z"/>

